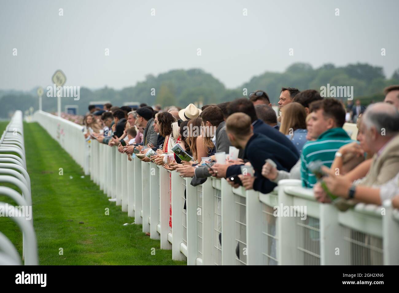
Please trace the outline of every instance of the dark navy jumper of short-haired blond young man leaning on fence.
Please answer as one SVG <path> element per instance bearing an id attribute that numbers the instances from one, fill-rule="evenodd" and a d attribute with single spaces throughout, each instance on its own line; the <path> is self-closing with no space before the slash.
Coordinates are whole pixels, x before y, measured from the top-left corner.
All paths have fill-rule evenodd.
<path id="1" fill-rule="evenodd" d="M 244 149 L 244 159 L 251 163 L 257 177 L 253 183 L 253 189 L 261 193 L 269 193 L 277 186 L 261 174 L 266 159 L 272 159 L 278 170 L 288 172 L 296 164 L 298 158 L 299 156 L 288 147 L 259 133 L 251 136 Z"/>

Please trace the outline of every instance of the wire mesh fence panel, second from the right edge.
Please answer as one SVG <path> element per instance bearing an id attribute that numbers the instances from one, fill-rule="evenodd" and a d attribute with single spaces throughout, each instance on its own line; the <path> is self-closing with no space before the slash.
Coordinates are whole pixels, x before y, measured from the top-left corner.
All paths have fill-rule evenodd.
<path id="1" fill-rule="evenodd" d="M 319 219 L 296 217 L 297 265 L 320 265 Z"/>

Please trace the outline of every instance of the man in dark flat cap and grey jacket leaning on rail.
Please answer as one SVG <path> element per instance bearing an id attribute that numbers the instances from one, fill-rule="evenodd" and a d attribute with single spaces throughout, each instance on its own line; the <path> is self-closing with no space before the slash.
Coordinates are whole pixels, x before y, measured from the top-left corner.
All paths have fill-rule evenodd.
<path id="1" fill-rule="evenodd" d="M 144 128 L 143 146 L 138 146 L 136 148 L 141 150 L 144 146 L 156 146 L 158 133 L 154 130 L 154 118 L 152 118 L 153 110 L 147 107 L 142 107 L 137 109 L 136 114 L 137 125 Z"/>

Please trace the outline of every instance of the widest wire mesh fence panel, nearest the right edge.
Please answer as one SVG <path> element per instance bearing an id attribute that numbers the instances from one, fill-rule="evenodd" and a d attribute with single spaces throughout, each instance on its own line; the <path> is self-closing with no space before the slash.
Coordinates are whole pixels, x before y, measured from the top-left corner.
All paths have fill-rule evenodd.
<path id="1" fill-rule="evenodd" d="M 342 227 L 346 265 L 383 265 L 383 240 L 380 237 Z"/>

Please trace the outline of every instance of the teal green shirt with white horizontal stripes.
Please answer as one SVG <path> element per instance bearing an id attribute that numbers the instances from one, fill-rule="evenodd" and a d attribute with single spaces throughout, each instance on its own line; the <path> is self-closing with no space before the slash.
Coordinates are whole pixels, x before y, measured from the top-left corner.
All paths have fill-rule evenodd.
<path id="1" fill-rule="evenodd" d="M 323 132 L 318 140 L 307 142 L 301 154 L 301 179 L 303 187 L 312 188 L 316 184 L 316 176 L 308 169 L 312 161 L 321 161 L 323 165 L 331 167 L 335 153 L 340 147 L 353 142 L 346 131 L 340 127 L 332 128 Z"/>

